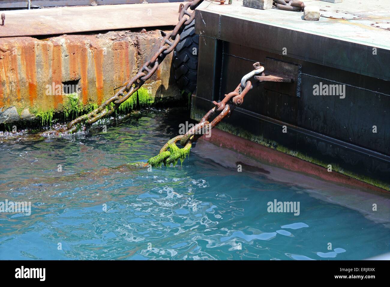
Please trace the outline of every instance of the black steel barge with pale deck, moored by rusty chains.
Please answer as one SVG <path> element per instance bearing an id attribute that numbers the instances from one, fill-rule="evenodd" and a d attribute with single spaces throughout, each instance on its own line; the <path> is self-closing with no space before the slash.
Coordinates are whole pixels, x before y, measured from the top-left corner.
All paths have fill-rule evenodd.
<path id="1" fill-rule="evenodd" d="M 252 78 L 244 103 L 218 128 L 390 190 L 390 8 L 379 0 L 305 4 L 320 7 L 319 21 L 203 2 L 191 118 L 233 91 L 254 62 L 265 73 L 289 70 L 291 83 Z"/>

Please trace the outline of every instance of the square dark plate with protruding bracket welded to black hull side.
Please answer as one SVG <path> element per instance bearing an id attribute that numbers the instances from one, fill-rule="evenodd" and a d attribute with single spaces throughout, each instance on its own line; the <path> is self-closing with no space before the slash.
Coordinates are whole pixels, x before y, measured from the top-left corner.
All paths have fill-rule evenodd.
<path id="1" fill-rule="evenodd" d="M 266 75 L 280 75 L 284 78 L 291 78 L 293 82 L 264 82 L 264 89 L 278 94 L 287 94 L 289 96 L 301 96 L 301 65 L 280 61 L 266 57 L 264 64 L 264 73 Z"/>

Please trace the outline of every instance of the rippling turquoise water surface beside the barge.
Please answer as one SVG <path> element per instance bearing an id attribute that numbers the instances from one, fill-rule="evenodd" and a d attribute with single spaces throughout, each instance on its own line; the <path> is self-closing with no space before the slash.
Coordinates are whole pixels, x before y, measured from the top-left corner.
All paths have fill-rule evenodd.
<path id="1" fill-rule="evenodd" d="M 155 155 L 179 118 L 148 112 L 107 133 L 0 138 L 0 201 L 32 203 L 30 216 L 0 213 L 0 259 L 346 260 L 390 251 L 386 224 L 267 173 L 195 153 L 176 168 L 115 168 Z M 300 202 L 299 216 L 269 213 L 274 199 Z"/>

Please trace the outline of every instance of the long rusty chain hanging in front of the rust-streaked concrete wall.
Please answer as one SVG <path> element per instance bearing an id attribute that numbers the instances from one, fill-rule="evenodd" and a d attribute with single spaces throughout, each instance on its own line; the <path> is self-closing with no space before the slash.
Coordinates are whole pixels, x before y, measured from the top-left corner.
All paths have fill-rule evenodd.
<path id="1" fill-rule="evenodd" d="M 188 2 L 181 9 L 179 14 L 179 23 L 176 24 L 174 30 L 167 34 L 160 43 L 160 48 L 156 54 L 147 62 L 144 66 L 138 70 L 137 75 L 127 81 L 126 86 L 122 87 L 114 96 L 102 103 L 97 109 L 94 109 L 89 114 L 82 115 L 70 123 L 66 127 L 60 130 L 50 130 L 43 132 L 42 135 L 60 135 L 60 134 L 73 134 L 80 127 L 81 124 L 92 125 L 99 119 L 110 116 L 116 109 L 126 101 L 132 94 L 134 94 L 138 89 L 154 74 L 157 70 L 160 63 L 165 59 L 165 57 L 176 48 L 177 44 L 180 41 L 180 31 L 184 26 L 190 24 L 195 18 L 195 13 L 188 11 L 190 8 L 192 11 L 202 3 L 203 0 L 194 0 L 193 2 Z M 184 17 L 187 15 L 187 17 Z"/>

